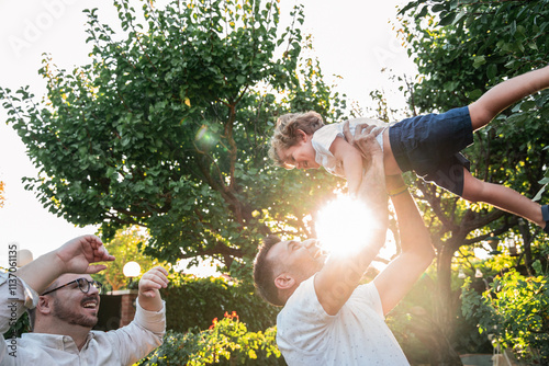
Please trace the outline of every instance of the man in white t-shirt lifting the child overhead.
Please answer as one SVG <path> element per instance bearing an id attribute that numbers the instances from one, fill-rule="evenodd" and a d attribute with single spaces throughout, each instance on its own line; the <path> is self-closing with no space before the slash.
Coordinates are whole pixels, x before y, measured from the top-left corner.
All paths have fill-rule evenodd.
<path id="1" fill-rule="evenodd" d="M 376 141 L 379 128 L 345 126 L 346 139 L 365 157 L 366 176 L 359 190 L 373 213 L 355 252 L 326 254 L 315 239 L 280 241 L 268 237 L 259 249 L 254 279 L 260 295 L 283 306 L 277 318 L 277 343 L 289 365 L 408 365 L 384 322 L 434 259 L 430 238 L 400 175 L 384 176 L 383 155 Z M 374 279 L 360 281 L 385 242 L 388 199 L 399 219 L 402 251 Z M 367 238 L 367 239 L 366 239 Z M 343 242 L 341 245 L 346 243 Z"/>

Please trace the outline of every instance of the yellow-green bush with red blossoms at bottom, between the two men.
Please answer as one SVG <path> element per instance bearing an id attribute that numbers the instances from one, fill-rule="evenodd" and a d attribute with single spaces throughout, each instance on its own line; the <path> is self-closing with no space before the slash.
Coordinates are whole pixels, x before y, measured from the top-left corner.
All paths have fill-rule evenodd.
<path id="1" fill-rule="evenodd" d="M 276 328 L 248 332 L 236 312 L 214 319 L 210 329 L 168 331 L 164 344 L 138 365 L 285 365 L 276 344 Z"/>

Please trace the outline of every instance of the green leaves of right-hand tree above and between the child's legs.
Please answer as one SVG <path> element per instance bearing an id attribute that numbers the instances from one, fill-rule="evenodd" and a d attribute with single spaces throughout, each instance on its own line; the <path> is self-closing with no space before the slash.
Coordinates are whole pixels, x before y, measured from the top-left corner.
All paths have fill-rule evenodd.
<path id="1" fill-rule="evenodd" d="M 401 14 L 422 75 L 413 106 L 423 112 L 468 105 L 506 78 L 547 64 L 547 1 L 412 1 Z M 467 153 L 477 178 L 540 198 L 548 100 L 547 90 L 526 98 L 475 134 Z"/>

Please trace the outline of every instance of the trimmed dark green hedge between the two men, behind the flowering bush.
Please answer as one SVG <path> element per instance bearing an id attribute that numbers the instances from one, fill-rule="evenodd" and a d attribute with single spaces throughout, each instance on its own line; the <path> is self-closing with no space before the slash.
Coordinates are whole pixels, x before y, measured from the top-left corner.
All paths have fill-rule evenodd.
<path id="1" fill-rule="evenodd" d="M 279 311 L 256 296 L 249 284 L 223 277 L 170 275 L 170 284 L 161 296 L 166 301 L 167 328 L 182 333 L 193 328 L 206 329 L 212 319 L 233 311 L 250 330 L 264 330 L 276 323 Z"/>

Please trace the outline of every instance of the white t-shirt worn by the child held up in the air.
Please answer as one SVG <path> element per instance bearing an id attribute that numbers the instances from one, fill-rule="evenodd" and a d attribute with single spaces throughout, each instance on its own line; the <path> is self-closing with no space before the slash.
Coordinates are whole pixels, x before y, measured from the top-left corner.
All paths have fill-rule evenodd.
<path id="1" fill-rule="evenodd" d="M 381 127 L 388 127 L 386 124 L 369 118 L 355 118 L 349 119 L 349 130 L 355 136 L 355 128 L 359 124 L 377 125 Z M 329 147 L 336 139 L 336 137 L 345 138 L 343 133 L 344 123 L 336 123 L 323 126 L 321 129 L 313 134 L 313 148 L 316 152 L 315 161 L 323 165 L 329 173 L 338 176 L 345 178 L 345 171 L 343 162 L 338 161 L 334 155 L 329 151 Z M 384 130 L 383 130 L 384 131 Z M 381 151 L 383 151 L 383 131 L 376 136 L 379 145 L 381 146 Z"/>

